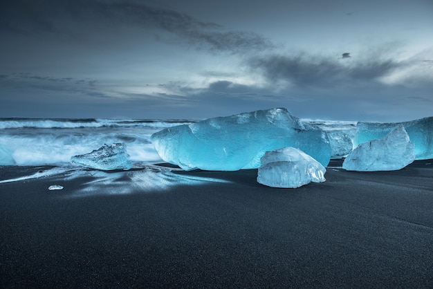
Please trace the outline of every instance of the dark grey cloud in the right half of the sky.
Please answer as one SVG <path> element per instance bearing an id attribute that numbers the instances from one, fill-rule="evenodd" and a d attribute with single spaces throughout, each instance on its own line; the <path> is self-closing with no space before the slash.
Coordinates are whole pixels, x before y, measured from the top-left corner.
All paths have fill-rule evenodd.
<path id="1" fill-rule="evenodd" d="M 335 86 L 376 82 L 403 64 L 380 57 L 365 61 L 339 62 L 332 57 L 268 55 L 248 59 L 248 66 L 261 71 L 269 82 L 286 81 L 295 86 Z"/>

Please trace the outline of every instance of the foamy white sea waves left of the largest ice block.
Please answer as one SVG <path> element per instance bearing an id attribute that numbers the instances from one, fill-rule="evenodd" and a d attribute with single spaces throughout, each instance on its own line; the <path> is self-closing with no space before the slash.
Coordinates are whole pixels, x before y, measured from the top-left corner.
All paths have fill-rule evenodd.
<path id="1" fill-rule="evenodd" d="M 152 133 L 193 120 L 0 119 L 0 147 L 16 165 L 65 165 L 72 156 L 122 142 L 132 162 L 158 162 Z"/>

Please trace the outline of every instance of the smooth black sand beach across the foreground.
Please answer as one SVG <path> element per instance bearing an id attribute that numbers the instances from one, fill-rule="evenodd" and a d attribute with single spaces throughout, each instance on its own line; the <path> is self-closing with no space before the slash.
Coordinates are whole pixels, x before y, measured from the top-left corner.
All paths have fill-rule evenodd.
<path id="1" fill-rule="evenodd" d="M 432 162 L 360 173 L 333 161 L 325 183 L 298 189 L 260 185 L 254 169 L 80 197 L 91 177 L 1 183 L 0 287 L 433 288 Z"/>

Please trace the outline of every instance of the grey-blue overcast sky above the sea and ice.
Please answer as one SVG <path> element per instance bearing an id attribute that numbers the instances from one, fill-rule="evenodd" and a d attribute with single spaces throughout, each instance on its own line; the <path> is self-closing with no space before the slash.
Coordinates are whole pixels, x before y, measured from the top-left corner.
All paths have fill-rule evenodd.
<path id="1" fill-rule="evenodd" d="M 432 0 L 3 0 L 0 117 L 433 115 Z"/>

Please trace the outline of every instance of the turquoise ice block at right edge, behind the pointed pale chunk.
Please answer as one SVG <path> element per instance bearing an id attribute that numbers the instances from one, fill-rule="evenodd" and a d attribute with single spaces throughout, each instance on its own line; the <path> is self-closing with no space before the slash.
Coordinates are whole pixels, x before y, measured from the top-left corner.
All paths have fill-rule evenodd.
<path id="1" fill-rule="evenodd" d="M 403 124 L 410 141 L 415 145 L 415 159 L 427 160 L 433 158 L 433 116 L 398 123 L 358 122 L 353 144 L 358 146 L 362 142 L 383 138 L 399 124 Z"/>

